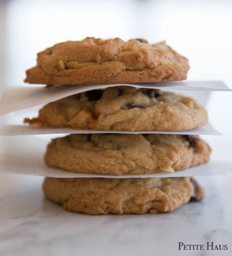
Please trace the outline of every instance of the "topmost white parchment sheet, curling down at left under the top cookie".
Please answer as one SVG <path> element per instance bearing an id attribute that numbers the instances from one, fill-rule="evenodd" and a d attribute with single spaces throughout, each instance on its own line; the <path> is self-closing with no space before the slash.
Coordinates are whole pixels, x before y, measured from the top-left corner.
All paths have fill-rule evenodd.
<path id="1" fill-rule="evenodd" d="M 6 87 L 0 101 L 0 115 L 49 103 L 76 93 L 115 86 L 156 88 L 172 91 L 232 91 L 222 81 L 177 81 L 132 84 L 95 84 L 89 86 L 41 86 Z"/>

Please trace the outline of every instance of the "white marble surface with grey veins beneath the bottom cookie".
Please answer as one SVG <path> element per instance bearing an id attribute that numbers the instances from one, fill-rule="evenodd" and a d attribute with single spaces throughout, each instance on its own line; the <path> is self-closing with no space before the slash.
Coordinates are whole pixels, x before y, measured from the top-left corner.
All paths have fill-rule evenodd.
<path id="1" fill-rule="evenodd" d="M 171 214 L 87 216 L 45 199 L 41 177 L 0 175 L 0 255 L 231 255 L 232 176 L 198 177 L 206 198 Z M 227 251 L 178 250 L 178 242 Z"/>

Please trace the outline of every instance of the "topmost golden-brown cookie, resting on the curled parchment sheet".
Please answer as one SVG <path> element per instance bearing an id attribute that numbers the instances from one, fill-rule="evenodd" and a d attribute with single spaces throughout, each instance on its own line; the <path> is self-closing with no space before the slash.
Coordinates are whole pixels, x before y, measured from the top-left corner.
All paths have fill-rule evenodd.
<path id="1" fill-rule="evenodd" d="M 187 78 L 188 59 L 165 42 L 87 37 L 66 41 L 37 54 L 25 82 L 98 84 L 177 81 Z"/>

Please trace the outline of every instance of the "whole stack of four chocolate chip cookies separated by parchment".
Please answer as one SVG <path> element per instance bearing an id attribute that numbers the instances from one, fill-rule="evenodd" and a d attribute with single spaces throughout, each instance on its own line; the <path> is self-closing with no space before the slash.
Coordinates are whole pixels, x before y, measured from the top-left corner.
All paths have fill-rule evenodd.
<path id="1" fill-rule="evenodd" d="M 144 39 L 126 42 L 87 37 L 40 52 L 37 66 L 26 72 L 26 82 L 115 84 L 51 102 L 38 117 L 25 118 L 25 123 L 34 126 L 91 130 L 53 139 L 44 161 L 49 167 L 92 174 L 93 178 L 47 177 L 44 195 L 67 210 L 86 214 L 155 214 L 201 200 L 203 188 L 192 177 L 120 178 L 173 173 L 210 159 L 211 148 L 199 136 L 150 133 L 203 126 L 207 112 L 196 100 L 163 90 L 117 85 L 183 80 L 188 70 L 188 59 L 165 42 L 150 45 Z M 96 174 L 119 178 L 96 178 Z"/>

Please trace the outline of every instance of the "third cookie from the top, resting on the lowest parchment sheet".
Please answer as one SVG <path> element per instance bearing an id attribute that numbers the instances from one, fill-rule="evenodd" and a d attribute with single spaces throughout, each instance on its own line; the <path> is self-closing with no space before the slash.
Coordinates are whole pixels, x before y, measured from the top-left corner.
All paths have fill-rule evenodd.
<path id="1" fill-rule="evenodd" d="M 51 141 L 44 162 L 76 173 L 149 174 L 204 164 L 210 154 L 199 136 L 71 134 Z"/>

